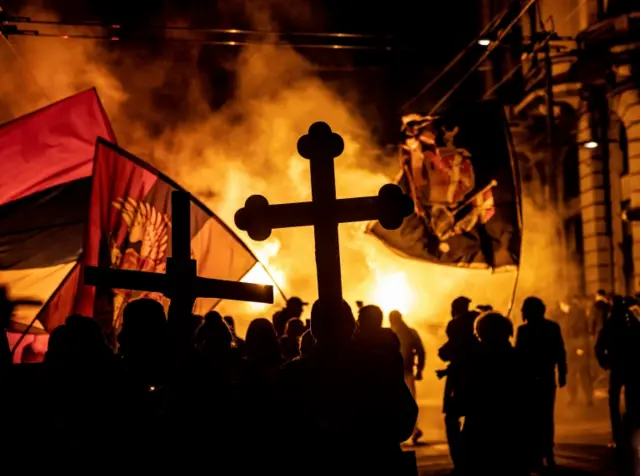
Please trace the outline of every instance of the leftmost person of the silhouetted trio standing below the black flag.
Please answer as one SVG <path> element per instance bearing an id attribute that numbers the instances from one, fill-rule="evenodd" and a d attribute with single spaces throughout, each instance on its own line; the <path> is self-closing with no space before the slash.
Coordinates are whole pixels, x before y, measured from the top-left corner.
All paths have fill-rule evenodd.
<path id="1" fill-rule="evenodd" d="M 438 350 L 443 362 L 449 362 L 446 370 L 438 371 L 438 377 L 447 377 L 444 387 L 442 411 L 449 443 L 449 453 L 454 468 L 462 464 L 462 417 L 464 402 L 460 398 L 467 384 L 469 363 L 478 346 L 475 336 L 475 320 L 479 313 L 469 310 L 471 300 L 459 296 L 451 302 L 451 321 L 447 324 L 447 342 Z"/>

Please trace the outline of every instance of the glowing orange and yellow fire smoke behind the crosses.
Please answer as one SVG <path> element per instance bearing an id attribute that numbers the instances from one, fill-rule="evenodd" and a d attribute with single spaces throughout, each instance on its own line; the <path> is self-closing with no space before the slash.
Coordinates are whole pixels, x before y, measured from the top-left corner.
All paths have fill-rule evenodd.
<path id="1" fill-rule="evenodd" d="M 20 12 L 33 18 L 53 15 L 42 10 Z M 145 60 L 143 54 L 118 53 L 104 43 L 85 40 L 12 37 L 21 60 L 9 45 L 0 57 L 9 64 L 0 75 L 3 120 L 50 101 L 95 86 L 112 120 L 119 143 L 152 162 L 198 196 L 228 225 L 252 194 L 270 203 L 309 200 L 308 162 L 296 153 L 299 136 L 315 121 L 327 122 L 345 140 L 336 159 L 339 197 L 374 195 L 397 172 L 396 157 L 378 149 L 370 124 L 357 108 L 314 73 L 314 66 L 292 48 L 244 47 L 233 68 L 235 96 L 213 112 L 193 61 Z M 175 56 L 175 55 L 174 55 Z M 179 113 L 156 107 L 157 92 L 182 97 Z M 399 121 L 398 121 L 399 122 Z M 524 199 L 524 254 L 518 296 L 536 293 L 560 299 L 562 257 L 556 217 L 540 212 Z M 345 299 L 377 303 L 385 311 L 398 308 L 415 324 L 448 319 L 449 303 L 464 294 L 476 304 L 490 303 L 506 311 L 515 273 L 464 270 L 409 261 L 364 234 L 364 223 L 340 227 Z M 311 228 L 275 230 L 263 243 L 239 236 L 267 265 L 287 295 L 308 301 L 316 297 Z M 265 282 L 254 270 L 246 280 Z M 517 302 L 517 301 L 516 301 Z M 271 309 L 224 303 L 223 310 L 242 318 L 270 317 Z M 517 308 L 512 317 L 519 318 Z M 240 331 L 247 321 L 240 320 Z"/>

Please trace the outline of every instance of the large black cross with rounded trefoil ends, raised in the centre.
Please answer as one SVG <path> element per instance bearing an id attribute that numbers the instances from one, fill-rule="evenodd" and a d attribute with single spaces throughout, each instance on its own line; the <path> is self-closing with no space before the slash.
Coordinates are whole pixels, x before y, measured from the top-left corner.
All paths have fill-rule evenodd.
<path id="1" fill-rule="evenodd" d="M 249 197 L 236 212 L 236 226 L 256 241 L 269 238 L 274 228 L 313 226 L 318 298 L 326 309 L 342 304 L 340 223 L 379 220 L 395 230 L 413 212 L 413 201 L 397 185 L 383 186 L 374 197 L 336 199 L 334 159 L 342 154 L 342 137 L 324 122 L 316 122 L 298 140 L 298 153 L 309 160 L 312 201 L 270 205 L 261 195 Z"/>

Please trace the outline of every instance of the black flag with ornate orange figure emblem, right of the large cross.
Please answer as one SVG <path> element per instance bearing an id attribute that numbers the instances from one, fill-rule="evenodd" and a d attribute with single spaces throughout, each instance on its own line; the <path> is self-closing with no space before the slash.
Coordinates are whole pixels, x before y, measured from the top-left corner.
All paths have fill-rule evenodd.
<path id="1" fill-rule="evenodd" d="M 375 222 L 367 231 L 410 258 L 468 268 L 517 266 L 520 188 L 503 107 L 483 101 L 402 121 L 398 184 L 415 212 L 398 230 Z"/>

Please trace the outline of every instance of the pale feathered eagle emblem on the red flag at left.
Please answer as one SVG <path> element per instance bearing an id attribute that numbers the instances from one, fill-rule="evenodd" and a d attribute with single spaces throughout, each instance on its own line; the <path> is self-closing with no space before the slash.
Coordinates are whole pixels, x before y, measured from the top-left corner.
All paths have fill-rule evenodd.
<path id="1" fill-rule="evenodd" d="M 126 231 L 112 234 L 109 238 L 109 255 L 112 268 L 133 271 L 164 273 L 167 266 L 169 228 L 171 219 L 148 202 L 131 197 L 118 198 L 112 202 L 120 211 L 120 219 Z M 121 239 L 118 237 L 121 236 Z M 134 297 L 147 297 L 162 302 L 159 293 L 147 293 L 124 289 L 114 290 L 114 325 L 122 319 L 124 304 Z M 135 295 L 134 295 L 135 293 Z"/>

